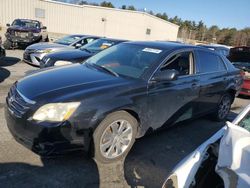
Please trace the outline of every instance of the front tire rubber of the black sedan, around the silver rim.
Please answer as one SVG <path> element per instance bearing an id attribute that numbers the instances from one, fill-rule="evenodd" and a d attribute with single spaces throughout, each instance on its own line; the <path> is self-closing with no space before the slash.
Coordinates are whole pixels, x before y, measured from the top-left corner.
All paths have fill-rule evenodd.
<path id="1" fill-rule="evenodd" d="M 130 145 L 128 146 L 128 148 L 124 151 L 123 154 L 121 154 L 120 156 L 113 158 L 113 159 L 108 159 L 106 157 L 104 157 L 101 154 L 100 151 L 100 139 L 101 136 L 103 134 L 103 132 L 105 131 L 105 129 L 114 121 L 119 120 L 119 119 L 124 119 L 126 121 L 128 121 L 131 126 L 132 126 L 132 140 L 130 142 Z M 96 130 L 94 131 L 93 134 L 93 142 L 92 142 L 92 151 L 93 151 L 93 158 L 101 163 L 113 163 L 116 161 L 119 161 L 121 159 L 124 159 L 128 152 L 130 151 L 130 149 L 132 148 L 134 142 L 135 142 L 135 137 L 137 134 L 137 128 L 138 128 L 138 122 L 137 120 L 130 115 L 129 113 L 127 113 L 126 111 L 117 111 L 117 112 L 113 112 L 111 114 L 109 114 L 96 128 Z"/>

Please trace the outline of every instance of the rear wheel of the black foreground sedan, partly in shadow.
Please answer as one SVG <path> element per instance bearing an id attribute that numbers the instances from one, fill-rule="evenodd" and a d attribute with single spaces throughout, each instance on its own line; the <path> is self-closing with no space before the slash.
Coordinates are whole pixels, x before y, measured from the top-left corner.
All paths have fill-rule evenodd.
<path id="1" fill-rule="evenodd" d="M 227 115 L 229 114 L 232 102 L 233 97 L 229 93 L 226 93 L 221 97 L 217 109 L 213 114 L 215 121 L 224 121 L 226 119 Z"/>

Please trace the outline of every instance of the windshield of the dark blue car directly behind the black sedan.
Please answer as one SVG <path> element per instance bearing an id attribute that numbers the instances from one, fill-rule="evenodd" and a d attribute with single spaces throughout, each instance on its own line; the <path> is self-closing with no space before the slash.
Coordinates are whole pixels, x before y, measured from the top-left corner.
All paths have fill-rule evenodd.
<path id="1" fill-rule="evenodd" d="M 80 48 L 80 50 L 88 50 L 89 52 L 99 52 L 117 43 L 118 41 L 112 41 L 108 39 L 98 39 L 94 42 L 84 45 L 83 47 Z"/>

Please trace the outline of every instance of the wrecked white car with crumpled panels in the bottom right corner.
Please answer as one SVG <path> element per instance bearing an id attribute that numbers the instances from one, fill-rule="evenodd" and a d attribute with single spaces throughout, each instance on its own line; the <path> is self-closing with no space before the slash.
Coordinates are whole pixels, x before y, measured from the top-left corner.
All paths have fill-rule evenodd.
<path id="1" fill-rule="evenodd" d="M 163 188 L 250 187 L 250 105 L 181 161 Z"/>

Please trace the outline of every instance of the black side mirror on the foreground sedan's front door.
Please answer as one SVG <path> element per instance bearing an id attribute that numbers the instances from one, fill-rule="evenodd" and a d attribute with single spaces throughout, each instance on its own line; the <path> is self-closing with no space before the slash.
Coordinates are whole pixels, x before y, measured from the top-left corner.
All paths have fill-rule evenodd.
<path id="1" fill-rule="evenodd" d="M 172 81 L 177 80 L 179 72 L 176 70 L 163 70 L 157 72 L 152 78 L 153 81 Z"/>

